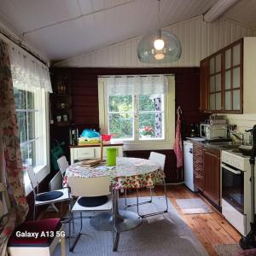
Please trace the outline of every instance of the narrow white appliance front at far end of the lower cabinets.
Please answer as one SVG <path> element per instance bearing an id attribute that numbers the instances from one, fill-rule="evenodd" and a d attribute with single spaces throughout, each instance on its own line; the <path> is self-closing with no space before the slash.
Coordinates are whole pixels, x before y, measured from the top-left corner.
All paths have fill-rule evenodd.
<path id="1" fill-rule="evenodd" d="M 192 191 L 197 191 L 193 177 L 193 143 L 183 142 L 184 183 Z"/>

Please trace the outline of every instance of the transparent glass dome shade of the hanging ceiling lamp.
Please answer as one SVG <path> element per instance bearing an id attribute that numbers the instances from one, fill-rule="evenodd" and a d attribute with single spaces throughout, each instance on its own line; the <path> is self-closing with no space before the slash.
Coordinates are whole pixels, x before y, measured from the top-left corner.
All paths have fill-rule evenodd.
<path id="1" fill-rule="evenodd" d="M 163 49 L 155 49 L 154 41 L 159 39 L 159 31 L 145 35 L 137 46 L 137 57 L 144 63 L 169 63 L 178 61 L 182 48 L 179 40 L 171 32 L 161 31 L 161 39 L 164 41 Z M 163 57 L 164 55 L 164 57 Z"/>

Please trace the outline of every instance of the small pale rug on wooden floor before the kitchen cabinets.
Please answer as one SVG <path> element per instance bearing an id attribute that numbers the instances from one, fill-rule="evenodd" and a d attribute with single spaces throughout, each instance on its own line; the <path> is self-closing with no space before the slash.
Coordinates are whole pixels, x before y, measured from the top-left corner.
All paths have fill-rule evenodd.
<path id="1" fill-rule="evenodd" d="M 176 199 L 178 207 L 184 214 L 211 213 L 211 207 L 201 200 L 201 198 Z"/>

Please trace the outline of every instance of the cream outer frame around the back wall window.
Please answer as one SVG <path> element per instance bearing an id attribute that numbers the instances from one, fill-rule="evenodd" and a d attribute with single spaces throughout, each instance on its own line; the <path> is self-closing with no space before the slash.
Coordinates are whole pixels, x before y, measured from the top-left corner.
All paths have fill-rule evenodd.
<path id="1" fill-rule="evenodd" d="M 168 94 L 164 96 L 164 132 L 165 138 L 138 140 L 138 128 L 135 127 L 135 140 L 114 139 L 122 141 L 124 150 L 172 149 L 175 141 L 175 78 L 166 75 L 168 79 Z M 104 77 L 98 78 L 99 124 L 101 133 L 108 133 L 108 94 Z M 136 110 L 136 109 L 135 109 Z M 137 114 L 135 113 L 135 116 Z M 138 118 L 138 116 L 137 116 Z M 136 122 L 134 122 L 136 124 Z"/>

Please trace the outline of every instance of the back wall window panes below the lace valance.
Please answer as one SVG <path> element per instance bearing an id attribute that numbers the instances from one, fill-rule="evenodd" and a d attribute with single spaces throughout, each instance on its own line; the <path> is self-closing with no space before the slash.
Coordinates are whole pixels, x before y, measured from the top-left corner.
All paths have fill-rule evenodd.
<path id="1" fill-rule="evenodd" d="M 113 138 L 165 138 L 164 95 L 108 96 L 108 131 Z"/>

